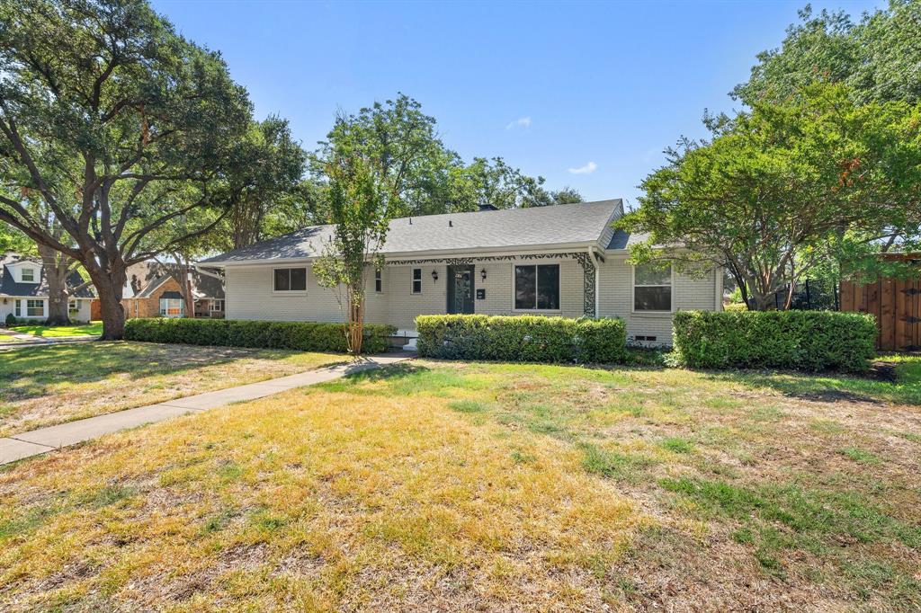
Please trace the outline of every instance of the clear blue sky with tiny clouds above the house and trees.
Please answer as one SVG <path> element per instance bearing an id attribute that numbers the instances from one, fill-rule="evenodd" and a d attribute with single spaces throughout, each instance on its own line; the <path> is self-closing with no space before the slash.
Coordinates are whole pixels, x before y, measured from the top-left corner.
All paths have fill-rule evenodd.
<path id="1" fill-rule="evenodd" d="M 396 92 L 465 159 L 503 156 L 547 187 L 624 197 L 777 46 L 805 2 L 299 3 L 154 0 L 224 54 L 256 113 L 312 149 L 337 110 Z M 813 2 L 858 17 L 881 2 Z"/>

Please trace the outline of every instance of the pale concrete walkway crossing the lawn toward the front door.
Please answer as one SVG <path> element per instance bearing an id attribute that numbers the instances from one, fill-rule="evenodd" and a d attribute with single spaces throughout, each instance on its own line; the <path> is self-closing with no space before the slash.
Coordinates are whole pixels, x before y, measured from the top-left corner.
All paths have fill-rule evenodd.
<path id="1" fill-rule="evenodd" d="M 363 370 L 396 364 L 413 356 L 414 353 L 408 352 L 371 355 L 350 364 L 326 366 L 298 375 L 281 376 L 245 386 L 227 387 L 227 389 L 218 389 L 195 396 L 167 400 L 166 402 L 150 404 L 145 407 L 107 413 L 85 420 L 61 423 L 22 434 L 15 434 L 7 438 L 0 438 L 0 464 L 15 462 L 24 457 L 38 456 L 52 451 L 52 449 L 83 443 L 102 434 L 135 428 L 146 423 L 162 422 L 171 417 L 187 413 L 216 409 L 231 402 L 260 399 L 294 387 L 312 386 L 316 383 L 331 381 Z"/>

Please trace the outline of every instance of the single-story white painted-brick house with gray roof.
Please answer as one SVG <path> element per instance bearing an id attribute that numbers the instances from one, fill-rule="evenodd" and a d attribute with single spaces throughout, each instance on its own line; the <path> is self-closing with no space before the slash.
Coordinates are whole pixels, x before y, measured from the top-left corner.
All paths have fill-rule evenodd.
<path id="1" fill-rule="evenodd" d="M 382 270 L 368 271 L 366 320 L 415 336 L 418 315 L 624 318 L 632 341 L 671 343 L 679 309 L 722 307 L 722 274 L 701 278 L 626 263 L 641 237 L 614 231 L 621 200 L 404 217 Z M 341 321 L 311 265 L 333 226 L 312 226 L 204 260 L 223 268 L 227 318 Z"/>

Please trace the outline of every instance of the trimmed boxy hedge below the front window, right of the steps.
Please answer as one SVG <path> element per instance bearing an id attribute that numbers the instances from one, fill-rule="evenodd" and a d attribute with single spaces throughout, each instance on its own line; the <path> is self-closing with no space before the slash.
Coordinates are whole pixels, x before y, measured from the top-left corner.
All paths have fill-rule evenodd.
<path id="1" fill-rule="evenodd" d="M 536 315 L 421 315 L 419 355 L 504 362 L 615 363 L 626 357 L 621 319 Z"/>

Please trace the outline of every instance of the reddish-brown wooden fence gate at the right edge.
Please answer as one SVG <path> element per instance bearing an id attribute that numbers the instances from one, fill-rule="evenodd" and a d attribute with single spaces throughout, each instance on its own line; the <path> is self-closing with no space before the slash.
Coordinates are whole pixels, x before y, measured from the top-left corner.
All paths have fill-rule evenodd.
<path id="1" fill-rule="evenodd" d="M 841 310 L 876 316 L 880 351 L 921 352 L 921 274 L 884 277 L 876 283 L 842 282 Z"/>

